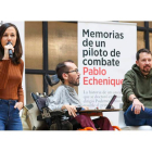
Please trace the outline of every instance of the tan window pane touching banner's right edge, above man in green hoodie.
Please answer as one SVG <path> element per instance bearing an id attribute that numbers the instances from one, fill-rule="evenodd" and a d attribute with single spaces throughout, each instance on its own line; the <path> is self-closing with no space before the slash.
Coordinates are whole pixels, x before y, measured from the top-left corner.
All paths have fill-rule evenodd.
<path id="1" fill-rule="evenodd" d="M 137 51 L 139 49 L 145 48 L 144 45 L 144 33 L 143 31 L 137 31 Z"/>

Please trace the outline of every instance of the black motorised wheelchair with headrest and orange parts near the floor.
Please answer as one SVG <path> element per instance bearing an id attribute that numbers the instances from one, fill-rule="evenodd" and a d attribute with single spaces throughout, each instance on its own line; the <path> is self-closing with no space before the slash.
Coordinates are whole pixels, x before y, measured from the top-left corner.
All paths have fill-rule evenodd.
<path id="1" fill-rule="evenodd" d="M 58 75 L 53 75 L 51 77 L 46 75 L 45 78 L 47 84 L 51 87 L 60 81 Z M 43 97 L 31 92 L 31 97 L 40 112 L 40 115 L 37 116 L 37 121 L 45 121 L 48 126 L 48 130 L 94 130 L 91 127 L 81 128 L 80 124 L 78 124 L 76 119 L 69 116 L 67 111 L 52 111 L 46 106 L 46 100 L 50 96 L 53 96 L 53 90 L 49 96 Z M 81 110 L 81 107 L 76 109 L 77 113 L 79 113 Z M 67 119 L 64 119 L 63 117 L 66 117 Z M 117 126 L 113 126 L 113 128 L 121 130 Z"/>

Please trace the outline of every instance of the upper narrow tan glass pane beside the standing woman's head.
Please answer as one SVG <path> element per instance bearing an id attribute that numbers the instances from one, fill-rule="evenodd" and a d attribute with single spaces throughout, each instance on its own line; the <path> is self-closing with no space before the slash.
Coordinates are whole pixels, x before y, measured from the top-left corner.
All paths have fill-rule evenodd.
<path id="1" fill-rule="evenodd" d="M 42 69 L 42 22 L 25 22 L 25 68 Z"/>

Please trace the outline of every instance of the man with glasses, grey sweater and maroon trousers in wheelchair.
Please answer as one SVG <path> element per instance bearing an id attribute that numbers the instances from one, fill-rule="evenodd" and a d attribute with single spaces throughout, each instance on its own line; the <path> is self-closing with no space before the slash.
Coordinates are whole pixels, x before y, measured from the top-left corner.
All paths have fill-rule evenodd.
<path id="1" fill-rule="evenodd" d="M 76 107 L 83 107 L 85 110 L 88 110 L 88 107 L 81 105 L 74 89 L 74 86 L 79 85 L 80 78 L 80 74 L 74 62 L 68 60 L 59 63 L 55 71 L 58 77 L 62 80 L 63 84 L 56 89 L 53 97 L 49 97 L 47 99 L 47 106 L 51 110 L 67 110 L 68 114 L 72 115 L 83 128 L 92 127 L 97 129 L 96 126 L 98 126 L 98 128 L 102 130 L 113 130 L 113 127 L 106 117 L 99 117 L 91 121 L 89 116 L 76 114 Z"/>

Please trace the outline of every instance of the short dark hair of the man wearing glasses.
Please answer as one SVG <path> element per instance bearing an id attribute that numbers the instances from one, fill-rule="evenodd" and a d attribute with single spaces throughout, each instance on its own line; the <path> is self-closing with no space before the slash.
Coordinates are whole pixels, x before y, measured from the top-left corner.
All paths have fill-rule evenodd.
<path id="1" fill-rule="evenodd" d="M 55 68 L 56 75 L 61 79 L 62 83 L 64 83 L 62 74 L 69 71 L 69 67 L 65 64 L 66 62 L 74 63 L 72 60 L 67 60 L 67 61 L 59 63 Z"/>

